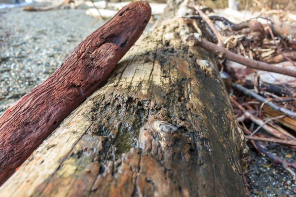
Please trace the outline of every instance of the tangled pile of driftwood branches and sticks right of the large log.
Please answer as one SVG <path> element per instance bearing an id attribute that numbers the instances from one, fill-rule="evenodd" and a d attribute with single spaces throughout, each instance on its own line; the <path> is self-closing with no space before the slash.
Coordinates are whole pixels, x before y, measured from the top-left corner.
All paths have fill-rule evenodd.
<path id="1" fill-rule="evenodd" d="M 254 18 L 235 24 L 211 9 L 204 9 L 208 15 L 198 6 L 195 9 L 196 15 L 184 17 L 196 29 L 187 38 L 189 45 L 216 53 L 247 141 L 296 180 L 291 169 L 296 163 L 265 149 L 266 142 L 296 148 L 296 15 L 262 8 Z M 201 27 L 210 35 L 207 39 L 202 38 Z"/>

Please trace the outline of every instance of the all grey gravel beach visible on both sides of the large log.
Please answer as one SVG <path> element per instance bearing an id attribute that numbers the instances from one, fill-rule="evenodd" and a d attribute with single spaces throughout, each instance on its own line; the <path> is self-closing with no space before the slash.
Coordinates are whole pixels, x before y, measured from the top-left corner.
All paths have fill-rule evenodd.
<path id="1" fill-rule="evenodd" d="M 87 35 L 105 22 L 85 9 L 25 12 L 23 7 L 0 10 L 0 114 L 49 77 Z M 293 162 L 295 151 L 283 146 L 268 149 Z M 292 197 L 296 183 L 279 165 L 251 152 L 246 172 L 253 197 Z"/>

